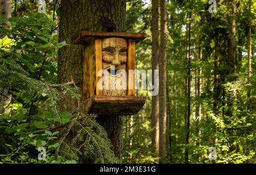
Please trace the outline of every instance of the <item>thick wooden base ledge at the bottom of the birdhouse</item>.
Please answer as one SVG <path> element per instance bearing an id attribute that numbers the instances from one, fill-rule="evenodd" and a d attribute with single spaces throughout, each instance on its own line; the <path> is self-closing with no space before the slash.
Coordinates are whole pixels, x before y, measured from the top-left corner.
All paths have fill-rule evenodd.
<path id="1" fill-rule="evenodd" d="M 135 96 L 92 96 L 85 100 L 84 113 L 103 116 L 126 116 L 137 114 L 145 104 L 145 97 Z"/>

